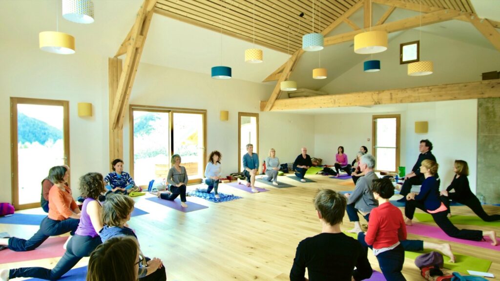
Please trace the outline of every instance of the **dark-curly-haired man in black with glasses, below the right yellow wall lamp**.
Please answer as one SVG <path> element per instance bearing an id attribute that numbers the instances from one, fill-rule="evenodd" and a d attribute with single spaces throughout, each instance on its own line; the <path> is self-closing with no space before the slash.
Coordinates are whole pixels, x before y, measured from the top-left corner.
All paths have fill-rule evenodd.
<path id="1" fill-rule="evenodd" d="M 418 155 L 418 159 L 416 160 L 415 165 L 411 169 L 411 172 L 404 176 L 404 183 L 399 191 L 399 194 L 403 195 L 403 197 L 397 201 L 404 202 L 406 201 L 406 194 L 411 190 L 411 185 L 421 185 L 423 180 L 425 179 L 423 173 L 420 172 L 420 165 L 423 160 L 432 160 L 436 161 L 436 157 L 432 154 L 430 150 L 432 150 L 432 142 L 428 139 L 420 140 L 420 155 Z M 439 175 L 435 175 L 435 177 L 439 180 Z"/>

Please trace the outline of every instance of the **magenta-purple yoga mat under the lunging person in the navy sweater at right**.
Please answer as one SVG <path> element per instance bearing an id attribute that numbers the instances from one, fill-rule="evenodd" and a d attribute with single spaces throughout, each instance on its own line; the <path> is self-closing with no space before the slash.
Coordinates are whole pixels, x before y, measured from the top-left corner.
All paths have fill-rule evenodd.
<path id="1" fill-rule="evenodd" d="M 453 238 L 453 237 L 446 235 L 446 233 L 444 233 L 444 231 L 442 231 L 442 229 L 439 228 L 438 226 L 431 226 L 431 225 L 426 225 L 426 224 L 421 224 L 421 223 L 413 223 L 412 226 L 406 226 L 406 232 L 411 233 L 411 234 L 417 234 L 417 235 L 437 238 L 437 239 L 441 239 L 441 240 L 446 240 L 446 241 L 451 241 L 451 242 L 467 244 L 467 245 L 471 245 L 471 246 L 500 251 L 500 245 L 496 245 L 496 246 L 491 245 L 491 239 L 489 237 L 484 237 L 484 239 L 486 239 L 486 241 L 472 241 L 472 240 Z M 496 239 L 498 240 L 500 238 L 496 237 Z"/>

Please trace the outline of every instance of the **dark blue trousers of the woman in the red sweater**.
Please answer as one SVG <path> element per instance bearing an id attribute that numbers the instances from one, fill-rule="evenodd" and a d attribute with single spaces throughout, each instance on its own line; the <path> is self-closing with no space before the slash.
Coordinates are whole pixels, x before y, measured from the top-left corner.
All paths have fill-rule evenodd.
<path id="1" fill-rule="evenodd" d="M 364 233 L 357 233 L 357 240 L 359 243 L 368 250 L 368 247 L 372 249 L 371 245 L 367 245 L 364 241 Z M 423 243 L 423 242 L 422 242 Z M 404 248 L 402 242 L 391 250 L 387 250 L 376 255 L 378 260 L 378 266 L 382 270 L 383 276 L 387 281 L 401 281 L 406 280 L 401 273 L 404 263 Z"/>

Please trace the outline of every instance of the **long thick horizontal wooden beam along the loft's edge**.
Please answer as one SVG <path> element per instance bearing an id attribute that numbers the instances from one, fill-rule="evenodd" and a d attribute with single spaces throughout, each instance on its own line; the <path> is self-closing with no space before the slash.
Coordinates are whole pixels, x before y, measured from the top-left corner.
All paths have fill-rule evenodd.
<path id="1" fill-rule="evenodd" d="M 278 99 L 271 111 L 500 97 L 500 80 Z M 266 101 L 260 101 L 265 111 Z"/>

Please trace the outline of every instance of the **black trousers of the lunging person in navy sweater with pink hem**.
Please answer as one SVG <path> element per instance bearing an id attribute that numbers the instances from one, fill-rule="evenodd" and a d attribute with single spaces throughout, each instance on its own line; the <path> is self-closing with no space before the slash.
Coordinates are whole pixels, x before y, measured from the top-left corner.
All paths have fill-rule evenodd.
<path id="1" fill-rule="evenodd" d="M 423 202 L 408 200 L 404 206 L 404 215 L 407 218 L 413 219 L 413 214 L 415 213 L 415 208 L 419 208 L 424 212 L 428 211 L 425 209 Z M 470 230 L 470 229 L 458 229 L 447 217 L 447 211 L 440 211 L 436 213 L 431 213 L 434 222 L 439 226 L 439 228 L 446 233 L 446 235 L 458 239 L 480 241 L 482 239 L 481 230 Z"/>

